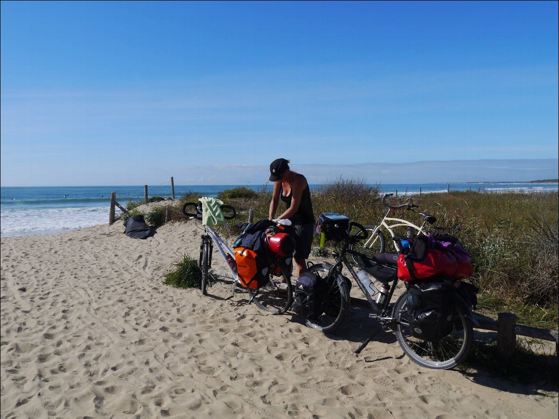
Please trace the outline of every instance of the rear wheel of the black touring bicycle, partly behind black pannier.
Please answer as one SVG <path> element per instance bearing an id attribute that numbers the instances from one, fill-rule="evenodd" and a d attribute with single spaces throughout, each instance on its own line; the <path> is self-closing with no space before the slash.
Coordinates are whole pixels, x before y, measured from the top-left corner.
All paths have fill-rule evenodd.
<path id="1" fill-rule="evenodd" d="M 416 364 L 432 369 L 449 369 L 461 363 L 467 356 L 473 341 L 472 323 L 466 317 L 465 304 L 454 304 L 454 329 L 448 336 L 438 341 L 424 341 L 411 336 L 408 321 L 408 292 L 400 296 L 394 306 L 393 317 L 396 318 L 396 339 Z M 458 300 L 459 297 L 455 296 Z"/>

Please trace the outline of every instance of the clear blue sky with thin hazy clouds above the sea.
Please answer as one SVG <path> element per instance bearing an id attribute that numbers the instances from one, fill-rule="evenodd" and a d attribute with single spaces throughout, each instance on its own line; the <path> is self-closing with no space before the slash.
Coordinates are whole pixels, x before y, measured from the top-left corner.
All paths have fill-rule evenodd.
<path id="1" fill-rule="evenodd" d="M 558 4 L 2 1 L 0 182 L 556 178 Z"/>

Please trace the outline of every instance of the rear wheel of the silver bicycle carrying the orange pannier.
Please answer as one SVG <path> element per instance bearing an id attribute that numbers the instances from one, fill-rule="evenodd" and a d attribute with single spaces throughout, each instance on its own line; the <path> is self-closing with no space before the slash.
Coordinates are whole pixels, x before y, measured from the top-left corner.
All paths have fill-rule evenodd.
<path id="1" fill-rule="evenodd" d="M 264 311 L 274 314 L 283 314 L 293 302 L 293 288 L 291 285 L 291 275 L 287 273 L 285 266 L 278 265 L 280 276 L 277 277 L 270 273 L 270 282 L 258 289 L 248 288 L 250 297 L 256 293 L 254 302 Z"/>

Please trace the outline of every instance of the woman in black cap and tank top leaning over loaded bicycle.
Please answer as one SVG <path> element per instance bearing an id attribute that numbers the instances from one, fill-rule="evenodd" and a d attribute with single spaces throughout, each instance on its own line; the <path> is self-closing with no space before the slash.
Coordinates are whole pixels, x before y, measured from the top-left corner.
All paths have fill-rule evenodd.
<path id="1" fill-rule="evenodd" d="M 280 199 L 286 203 L 286 211 L 278 217 L 288 219 L 295 228 L 295 254 L 293 259 L 299 276 L 307 270 L 306 259 L 311 253 L 314 234 L 314 213 L 307 179 L 289 169 L 290 160 L 276 159 L 270 164 L 270 181 L 274 183 L 268 220 L 273 220 Z"/>

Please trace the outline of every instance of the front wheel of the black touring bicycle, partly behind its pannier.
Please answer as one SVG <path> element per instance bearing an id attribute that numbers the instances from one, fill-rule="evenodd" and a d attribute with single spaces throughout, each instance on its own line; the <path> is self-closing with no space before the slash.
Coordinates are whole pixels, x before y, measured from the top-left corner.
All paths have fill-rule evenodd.
<path id="1" fill-rule="evenodd" d="M 309 271 L 326 280 L 332 267 L 329 263 L 312 265 Z M 349 310 L 349 288 L 342 275 L 336 275 L 334 282 L 326 290 L 323 313 L 316 318 L 307 318 L 305 323 L 321 332 L 328 333 L 337 328 Z"/>

